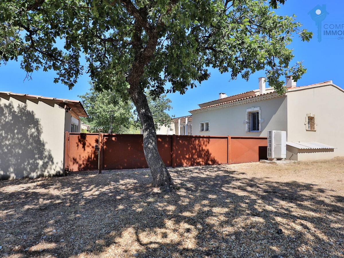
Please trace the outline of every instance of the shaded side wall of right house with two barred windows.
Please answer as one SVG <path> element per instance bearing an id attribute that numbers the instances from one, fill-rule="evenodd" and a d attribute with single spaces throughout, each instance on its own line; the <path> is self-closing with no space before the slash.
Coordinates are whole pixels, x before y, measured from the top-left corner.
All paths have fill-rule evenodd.
<path id="1" fill-rule="evenodd" d="M 261 131 L 246 132 L 246 110 L 259 107 Z M 209 121 L 209 131 L 200 131 L 200 123 Z M 192 113 L 192 135 L 267 136 L 268 130 L 287 130 L 287 98 L 278 97 L 253 103 Z"/>

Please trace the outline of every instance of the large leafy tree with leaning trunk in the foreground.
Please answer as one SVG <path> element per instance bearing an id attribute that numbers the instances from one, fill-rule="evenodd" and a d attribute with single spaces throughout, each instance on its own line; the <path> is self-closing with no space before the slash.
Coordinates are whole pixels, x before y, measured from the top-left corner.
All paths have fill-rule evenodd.
<path id="1" fill-rule="evenodd" d="M 295 17 L 273 12 L 284 0 L 2 0 L 0 56 L 28 72 L 54 69 L 73 87 L 88 72 L 98 89 L 132 99 L 143 129 L 143 148 L 153 186 L 172 178 L 162 162 L 145 89 L 155 96 L 185 93 L 206 80 L 207 67 L 247 79 L 265 70 L 283 93 L 282 75 L 300 78 L 289 65 L 296 33 L 309 40 Z M 86 65 L 80 64 L 85 56 Z"/>

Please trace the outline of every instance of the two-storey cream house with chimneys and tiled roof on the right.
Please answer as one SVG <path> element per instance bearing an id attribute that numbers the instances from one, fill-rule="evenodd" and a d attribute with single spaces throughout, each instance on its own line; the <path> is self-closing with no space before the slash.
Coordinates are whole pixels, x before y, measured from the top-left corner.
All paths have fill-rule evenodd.
<path id="1" fill-rule="evenodd" d="M 297 87 L 286 76 L 278 95 L 258 80 L 259 89 L 199 104 L 191 110 L 193 135 L 267 136 L 287 132 L 287 159 L 320 160 L 344 156 L 344 90 L 326 81 Z"/>

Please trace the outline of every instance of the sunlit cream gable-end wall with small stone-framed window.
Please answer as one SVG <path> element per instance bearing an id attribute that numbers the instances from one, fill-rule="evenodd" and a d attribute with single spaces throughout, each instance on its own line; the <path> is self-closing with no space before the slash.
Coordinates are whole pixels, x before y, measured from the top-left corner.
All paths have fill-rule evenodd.
<path id="1" fill-rule="evenodd" d="M 290 92 L 287 98 L 288 141 L 324 143 L 337 148 L 333 156 L 344 156 L 344 92 L 328 85 Z M 306 131 L 305 117 L 309 113 L 315 114 L 316 131 Z M 324 153 L 319 159 L 327 155 L 331 154 Z M 311 153 L 300 155 L 302 160 L 307 157 L 313 159 Z"/>

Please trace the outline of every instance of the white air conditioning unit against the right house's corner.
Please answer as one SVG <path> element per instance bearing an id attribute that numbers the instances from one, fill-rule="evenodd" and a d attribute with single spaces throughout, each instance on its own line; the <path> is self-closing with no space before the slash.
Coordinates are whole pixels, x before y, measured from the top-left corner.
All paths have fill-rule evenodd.
<path id="1" fill-rule="evenodd" d="M 285 159 L 287 157 L 286 146 L 286 131 L 268 131 L 268 159 Z"/>

